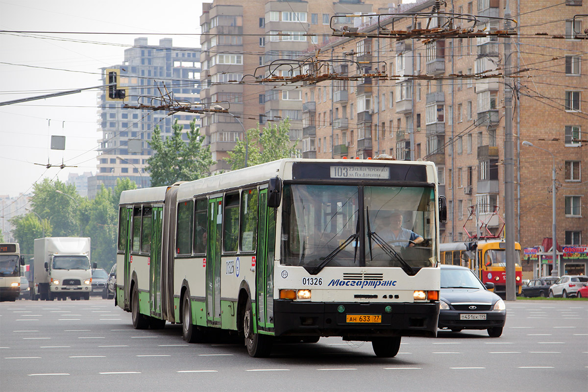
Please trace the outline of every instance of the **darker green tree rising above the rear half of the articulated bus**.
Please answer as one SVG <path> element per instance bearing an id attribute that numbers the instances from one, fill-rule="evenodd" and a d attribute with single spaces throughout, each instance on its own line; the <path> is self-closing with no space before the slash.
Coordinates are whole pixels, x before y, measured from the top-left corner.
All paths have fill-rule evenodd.
<path id="1" fill-rule="evenodd" d="M 153 130 L 149 146 L 154 153 L 147 160 L 152 186 L 172 185 L 210 175 L 209 167 L 214 161 L 210 147 L 202 146 L 203 139 L 196 128 L 196 119 L 192 120 L 186 133 L 188 142 L 182 139 L 182 125 L 178 124 L 178 119 L 172 128 L 172 136 L 165 140 L 161 138 L 159 126 Z"/>

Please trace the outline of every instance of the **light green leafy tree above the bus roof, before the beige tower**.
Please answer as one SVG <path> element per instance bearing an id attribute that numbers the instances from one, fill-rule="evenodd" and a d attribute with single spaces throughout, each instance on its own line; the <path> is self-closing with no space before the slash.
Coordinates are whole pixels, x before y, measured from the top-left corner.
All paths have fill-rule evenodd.
<path id="1" fill-rule="evenodd" d="M 229 163 L 232 170 L 245 167 L 245 146 L 247 148 L 247 165 L 259 165 L 259 163 L 272 162 L 272 160 L 282 158 L 292 158 L 296 155 L 296 145 L 290 141 L 290 120 L 285 119 L 276 125 L 271 123 L 269 126 L 259 129 L 252 128 L 247 131 L 246 140 L 238 140 L 235 148 L 229 151 Z"/>

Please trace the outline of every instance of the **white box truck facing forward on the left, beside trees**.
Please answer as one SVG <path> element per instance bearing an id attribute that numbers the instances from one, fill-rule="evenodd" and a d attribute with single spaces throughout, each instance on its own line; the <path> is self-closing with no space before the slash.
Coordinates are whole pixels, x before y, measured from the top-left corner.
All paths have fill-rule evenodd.
<path id="1" fill-rule="evenodd" d="M 90 299 L 92 268 L 88 237 L 47 237 L 35 240 L 31 299 Z"/>

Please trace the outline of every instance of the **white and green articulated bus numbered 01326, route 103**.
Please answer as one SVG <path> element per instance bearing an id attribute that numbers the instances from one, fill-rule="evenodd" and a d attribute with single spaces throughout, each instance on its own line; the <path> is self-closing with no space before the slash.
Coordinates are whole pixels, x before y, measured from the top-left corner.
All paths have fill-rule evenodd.
<path id="1" fill-rule="evenodd" d="M 136 329 L 182 324 L 245 338 L 250 356 L 275 339 L 372 341 L 436 336 L 439 219 L 435 165 L 395 160 L 282 159 L 122 192 L 115 301 Z M 386 242 L 402 213 L 419 243 Z M 408 230 L 407 230 L 408 231 Z"/>

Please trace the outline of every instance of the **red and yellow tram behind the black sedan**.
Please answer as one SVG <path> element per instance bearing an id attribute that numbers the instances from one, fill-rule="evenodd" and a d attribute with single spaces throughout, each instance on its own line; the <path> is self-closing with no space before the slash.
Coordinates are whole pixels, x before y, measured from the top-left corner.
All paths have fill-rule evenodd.
<path id="1" fill-rule="evenodd" d="M 477 244 L 478 277 L 482 283 L 494 283 L 494 292 L 506 294 L 506 243 L 502 239 L 478 242 L 450 242 L 440 244 L 442 264 L 456 264 L 469 267 L 476 272 L 476 250 L 470 244 Z M 520 244 L 515 242 L 515 283 L 516 292 L 521 293 L 523 268 L 520 264 Z"/>

